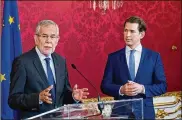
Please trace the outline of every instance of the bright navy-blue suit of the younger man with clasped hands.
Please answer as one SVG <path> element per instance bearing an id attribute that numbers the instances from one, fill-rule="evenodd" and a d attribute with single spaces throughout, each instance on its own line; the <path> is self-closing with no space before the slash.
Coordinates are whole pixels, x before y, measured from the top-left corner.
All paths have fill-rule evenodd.
<path id="1" fill-rule="evenodd" d="M 116 100 L 143 98 L 144 118 L 155 118 L 152 97 L 165 93 L 167 89 L 160 54 L 144 47 L 142 48 L 139 68 L 134 81 L 144 85 L 145 94 L 133 97 L 119 95 L 121 85 L 126 84 L 128 80 L 131 80 L 131 77 L 126 62 L 125 48 L 123 48 L 108 56 L 101 90 L 104 94 L 113 96 Z"/>

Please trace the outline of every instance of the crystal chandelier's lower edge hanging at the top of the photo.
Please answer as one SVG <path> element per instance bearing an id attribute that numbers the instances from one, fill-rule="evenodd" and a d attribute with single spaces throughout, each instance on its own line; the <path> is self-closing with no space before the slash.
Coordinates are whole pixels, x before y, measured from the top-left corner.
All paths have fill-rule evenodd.
<path id="1" fill-rule="evenodd" d="M 90 8 L 93 8 L 94 11 L 98 7 L 101 10 L 106 11 L 107 9 L 118 9 L 123 6 L 122 0 L 90 0 Z"/>

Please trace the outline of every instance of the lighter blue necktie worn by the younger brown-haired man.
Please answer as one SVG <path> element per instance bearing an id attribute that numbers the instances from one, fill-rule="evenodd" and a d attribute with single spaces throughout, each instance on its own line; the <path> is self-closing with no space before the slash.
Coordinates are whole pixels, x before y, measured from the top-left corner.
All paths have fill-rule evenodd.
<path id="1" fill-rule="evenodd" d="M 129 57 L 129 71 L 131 80 L 134 81 L 135 79 L 135 50 L 130 50 L 130 57 Z"/>

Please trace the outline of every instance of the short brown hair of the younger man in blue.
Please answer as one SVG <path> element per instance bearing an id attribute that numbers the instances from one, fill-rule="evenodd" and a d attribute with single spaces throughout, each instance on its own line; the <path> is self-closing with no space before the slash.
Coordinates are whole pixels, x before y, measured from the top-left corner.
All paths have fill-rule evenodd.
<path id="1" fill-rule="evenodd" d="M 138 17 L 138 16 L 131 16 L 128 19 L 126 19 L 126 21 L 124 22 L 124 27 L 125 27 L 127 22 L 129 22 L 129 23 L 138 23 L 139 32 L 143 32 L 143 31 L 145 32 L 147 30 L 145 21 L 142 18 Z"/>

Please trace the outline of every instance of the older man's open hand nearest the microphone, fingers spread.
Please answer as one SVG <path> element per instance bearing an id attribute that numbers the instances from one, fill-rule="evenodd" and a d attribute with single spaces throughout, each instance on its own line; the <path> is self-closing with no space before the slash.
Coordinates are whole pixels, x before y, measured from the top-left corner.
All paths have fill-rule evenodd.
<path id="1" fill-rule="evenodd" d="M 76 84 L 73 87 L 73 98 L 78 101 L 83 101 L 89 95 L 88 88 L 78 89 L 78 85 Z"/>

